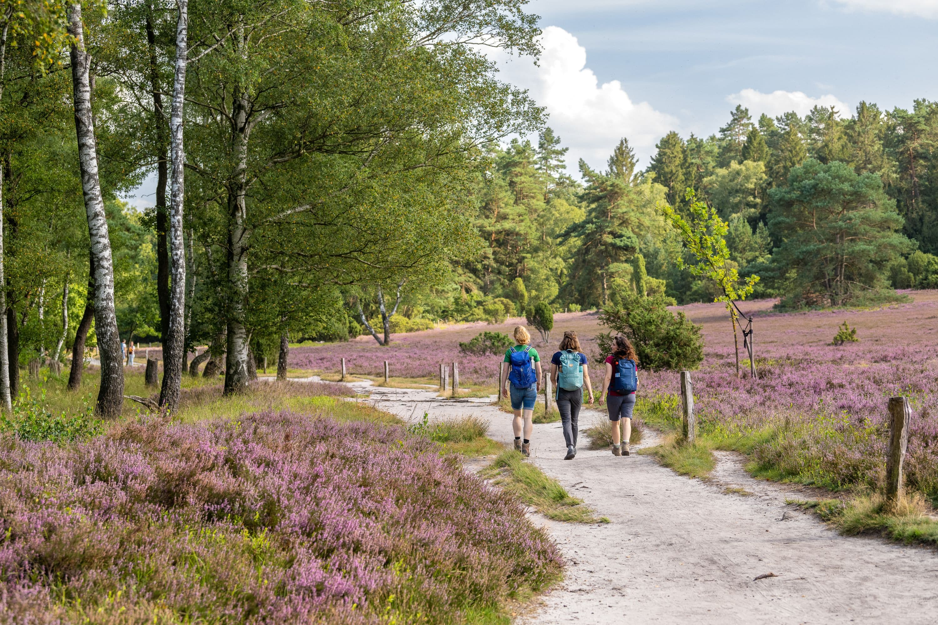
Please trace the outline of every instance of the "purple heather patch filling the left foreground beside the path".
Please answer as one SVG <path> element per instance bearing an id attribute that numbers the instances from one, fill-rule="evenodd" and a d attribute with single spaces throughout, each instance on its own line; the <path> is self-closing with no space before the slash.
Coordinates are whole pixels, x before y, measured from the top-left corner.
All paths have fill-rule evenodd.
<path id="1" fill-rule="evenodd" d="M 426 439 L 290 412 L 2 439 L 0 510 L 5 623 L 490 622 L 561 567 Z"/>

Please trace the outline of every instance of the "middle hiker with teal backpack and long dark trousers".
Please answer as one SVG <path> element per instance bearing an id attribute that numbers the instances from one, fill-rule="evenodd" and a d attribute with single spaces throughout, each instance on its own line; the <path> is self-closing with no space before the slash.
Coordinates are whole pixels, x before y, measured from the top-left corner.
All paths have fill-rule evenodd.
<path id="1" fill-rule="evenodd" d="M 583 383 L 593 403 L 593 385 L 586 368 L 586 354 L 580 350 L 580 339 L 575 332 L 565 332 L 560 341 L 560 351 L 551 359 L 551 381 L 557 389 L 555 401 L 560 410 L 560 421 L 564 424 L 564 440 L 567 442 L 565 460 L 577 454 L 577 435 L 580 430 L 580 408 L 583 403 Z"/>

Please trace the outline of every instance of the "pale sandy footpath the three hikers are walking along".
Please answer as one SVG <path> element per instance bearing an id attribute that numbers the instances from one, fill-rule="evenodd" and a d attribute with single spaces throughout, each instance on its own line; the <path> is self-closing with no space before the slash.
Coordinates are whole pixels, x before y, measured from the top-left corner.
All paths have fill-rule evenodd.
<path id="1" fill-rule="evenodd" d="M 364 389 L 363 389 L 364 390 Z M 415 421 L 475 414 L 509 442 L 511 417 L 486 400 L 375 387 L 375 405 Z M 584 410 L 581 429 L 604 414 Z M 560 424 L 535 425 L 532 461 L 611 523 L 532 515 L 567 558 L 563 584 L 521 623 L 934 623 L 938 552 L 848 538 L 785 504 L 782 486 L 753 480 L 720 454 L 714 480 L 689 480 L 651 457 L 566 453 Z M 644 445 L 655 444 L 654 438 Z M 743 496 L 727 487 L 752 493 Z M 764 573 L 777 576 L 754 581 Z"/>

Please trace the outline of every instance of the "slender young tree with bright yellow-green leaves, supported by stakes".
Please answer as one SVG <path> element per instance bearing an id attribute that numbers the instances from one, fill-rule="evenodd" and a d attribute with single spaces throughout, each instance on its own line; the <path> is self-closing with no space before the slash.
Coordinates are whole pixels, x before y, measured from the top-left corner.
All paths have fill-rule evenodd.
<path id="1" fill-rule="evenodd" d="M 739 315 L 734 302 L 745 300 L 752 294 L 758 275 L 749 275 L 740 279 L 739 273 L 730 261 L 730 249 L 726 245 L 727 222 L 719 217 L 716 208 L 707 206 L 703 201 L 697 201 L 693 190 L 688 189 L 688 219 L 678 214 L 671 206 L 659 204 L 658 209 L 664 215 L 673 229 L 680 234 L 685 248 L 696 260 L 686 265 L 691 275 L 705 278 L 715 285 L 718 290 L 715 302 L 723 302 L 730 320 L 733 322 L 733 339 L 736 349 L 736 375 L 739 375 L 739 339 L 736 334 L 736 324 Z M 678 265 L 684 266 L 683 257 L 678 258 Z M 749 368 L 755 377 L 755 365 L 749 343 Z"/>

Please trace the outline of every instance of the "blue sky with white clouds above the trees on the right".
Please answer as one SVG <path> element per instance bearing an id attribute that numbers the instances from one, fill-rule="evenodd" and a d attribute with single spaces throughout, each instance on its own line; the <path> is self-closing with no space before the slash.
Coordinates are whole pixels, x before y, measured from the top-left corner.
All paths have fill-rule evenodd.
<path id="1" fill-rule="evenodd" d="M 814 104 L 938 99 L 938 0 L 531 0 L 544 54 L 504 60 L 570 148 L 604 168 L 628 137 L 644 168 L 668 130 L 709 135 L 737 102 L 754 117 Z M 129 198 L 153 205 L 151 176 Z"/>

